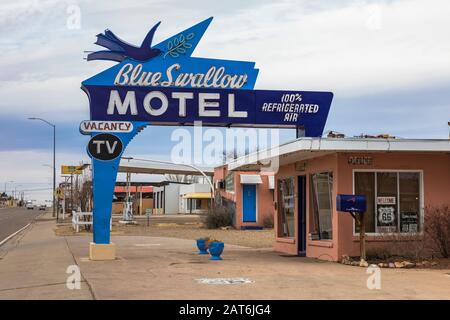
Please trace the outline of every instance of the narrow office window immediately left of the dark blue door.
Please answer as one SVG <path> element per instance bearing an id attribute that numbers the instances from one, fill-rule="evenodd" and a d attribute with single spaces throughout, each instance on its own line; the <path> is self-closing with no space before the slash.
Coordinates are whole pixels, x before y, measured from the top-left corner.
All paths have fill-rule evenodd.
<path id="1" fill-rule="evenodd" d="M 278 180 L 278 236 L 295 236 L 294 178 Z"/>

